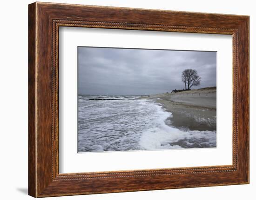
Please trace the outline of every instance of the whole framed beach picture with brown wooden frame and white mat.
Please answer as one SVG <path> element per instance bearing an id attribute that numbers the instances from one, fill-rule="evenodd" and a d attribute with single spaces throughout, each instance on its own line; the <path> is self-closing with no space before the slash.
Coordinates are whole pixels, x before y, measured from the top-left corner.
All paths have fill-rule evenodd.
<path id="1" fill-rule="evenodd" d="M 29 195 L 249 183 L 249 16 L 28 8 Z"/>

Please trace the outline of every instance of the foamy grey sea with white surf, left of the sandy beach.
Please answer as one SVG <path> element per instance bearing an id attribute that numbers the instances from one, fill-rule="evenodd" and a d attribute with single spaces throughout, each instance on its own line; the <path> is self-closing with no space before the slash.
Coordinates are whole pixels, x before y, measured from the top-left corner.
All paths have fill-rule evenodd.
<path id="1" fill-rule="evenodd" d="M 216 131 L 177 129 L 157 99 L 139 97 L 80 95 L 78 152 L 216 147 Z"/>

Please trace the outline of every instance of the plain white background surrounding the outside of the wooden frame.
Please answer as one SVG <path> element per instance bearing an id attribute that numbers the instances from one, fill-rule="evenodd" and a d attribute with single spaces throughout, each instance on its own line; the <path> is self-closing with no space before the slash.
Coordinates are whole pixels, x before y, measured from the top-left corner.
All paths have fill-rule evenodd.
<path id="1" fill-rule="evenodd" d="M 102 6 L 123 6 L 177 11 L 250 15 L 250 184 L 144 191 L 118 194 L 96 194 L 47 199 L 129 200 L 255 199 L 256 192 L 256 13 L 252 0 L 55 0 L 50 2 Z M 1 2 L 0 30 L 0 198 L 33 199 L 27 196 L 27 4 L 29 0 Z M 254 144 L 254 146 L 253 146 Z"/>

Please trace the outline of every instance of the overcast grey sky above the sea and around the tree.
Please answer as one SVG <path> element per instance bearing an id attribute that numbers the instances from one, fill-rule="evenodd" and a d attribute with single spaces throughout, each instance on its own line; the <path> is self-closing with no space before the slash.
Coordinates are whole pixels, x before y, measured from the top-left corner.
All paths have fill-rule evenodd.
<path id="1" fill-rule="evenodd" d="M 216 86 L 216 52 L 78 47 L 78 93 L 150 95 L 185 89 L 182 71 Z"/>

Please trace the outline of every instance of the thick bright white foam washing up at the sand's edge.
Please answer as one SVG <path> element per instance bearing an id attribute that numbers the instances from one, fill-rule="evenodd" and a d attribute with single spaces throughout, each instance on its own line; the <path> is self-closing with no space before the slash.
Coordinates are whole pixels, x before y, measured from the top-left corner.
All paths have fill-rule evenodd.
<path id="1" fill-rule="evenodd" d="M 141 147 L 152 149 L 173 149 L 173 148 L 189 148 L 197 142 L 199 147 L 216 147 L 216 131 L 183 131 L 166 124 L 167 119 L 171 120 L 171 113 L 166 112 L 158 104 L 158 118 L 156 124 L 158 126 L 145 130 L 141 135 Z M 179 145 L 178 145 L 179 144 Z"/>

